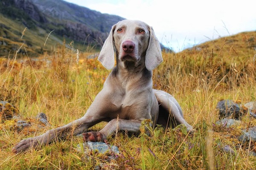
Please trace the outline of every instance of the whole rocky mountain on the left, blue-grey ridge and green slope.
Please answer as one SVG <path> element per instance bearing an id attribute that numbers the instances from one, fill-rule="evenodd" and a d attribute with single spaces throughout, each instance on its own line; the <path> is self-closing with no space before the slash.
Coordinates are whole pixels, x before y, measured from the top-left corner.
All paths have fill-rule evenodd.
<path id="1" fill-rule="evenodd" d="M 21 46 L 20 53 L 38 55 L 72 40 L 80 51 L 101 47 L 111 26 L 123 19 L 63 0 L 1 0 L 0 56 Z"/>

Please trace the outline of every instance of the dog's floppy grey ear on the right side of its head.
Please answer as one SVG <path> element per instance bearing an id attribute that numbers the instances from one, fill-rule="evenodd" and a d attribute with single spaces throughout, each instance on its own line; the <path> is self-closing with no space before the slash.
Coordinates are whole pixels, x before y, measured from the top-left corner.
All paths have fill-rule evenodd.
<path id="1" fill-rule="evenodd" d="M 150 37 L 148 42 L 148 49 L 146 53 L 145 65 L 151 71 L 163 62 L 160 43 L 154 34 L 152 27 L 149 27 Z"/>

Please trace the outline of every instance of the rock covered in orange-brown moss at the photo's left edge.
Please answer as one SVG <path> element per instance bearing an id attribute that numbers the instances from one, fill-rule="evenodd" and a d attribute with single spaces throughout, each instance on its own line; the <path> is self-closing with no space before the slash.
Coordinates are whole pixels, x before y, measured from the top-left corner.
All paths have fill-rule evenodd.
<path id="1" fill-rule="evenodd" d="M 18 109 L 9 102 L 0 101 L 0 119 L 1 121 L 12 119 L 13 116 L 17 116 Z"/>

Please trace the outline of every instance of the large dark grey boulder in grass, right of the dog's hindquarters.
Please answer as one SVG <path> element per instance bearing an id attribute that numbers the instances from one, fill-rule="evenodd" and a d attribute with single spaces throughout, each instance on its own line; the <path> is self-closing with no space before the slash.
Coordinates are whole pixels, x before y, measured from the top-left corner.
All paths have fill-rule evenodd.
<path id="1" fill-rule="evenodd" d="M 221 117 L 233 117 L 239 119 L 243 114 L 243 109 L 233 100 L 222 100 L 217 103 L 216 109 L 219 111 Z"/>

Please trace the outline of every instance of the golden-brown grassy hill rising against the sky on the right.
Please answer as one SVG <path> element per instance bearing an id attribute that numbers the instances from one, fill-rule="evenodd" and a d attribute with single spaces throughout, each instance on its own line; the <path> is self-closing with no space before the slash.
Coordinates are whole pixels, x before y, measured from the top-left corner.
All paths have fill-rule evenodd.
<path id="1" fill-rule="evenodd" d="M 230 70 L 235 70 L 240 76 L 247 76 L 255 72 L 256 31 L 204 42 L 177 53 L 177 56 L 190 56 L 181 65 L 186 67 L 189 74 L 198 70 L 209 74 L 211 68 L 219 75 L 218 80 L 227 76 Z"/>

